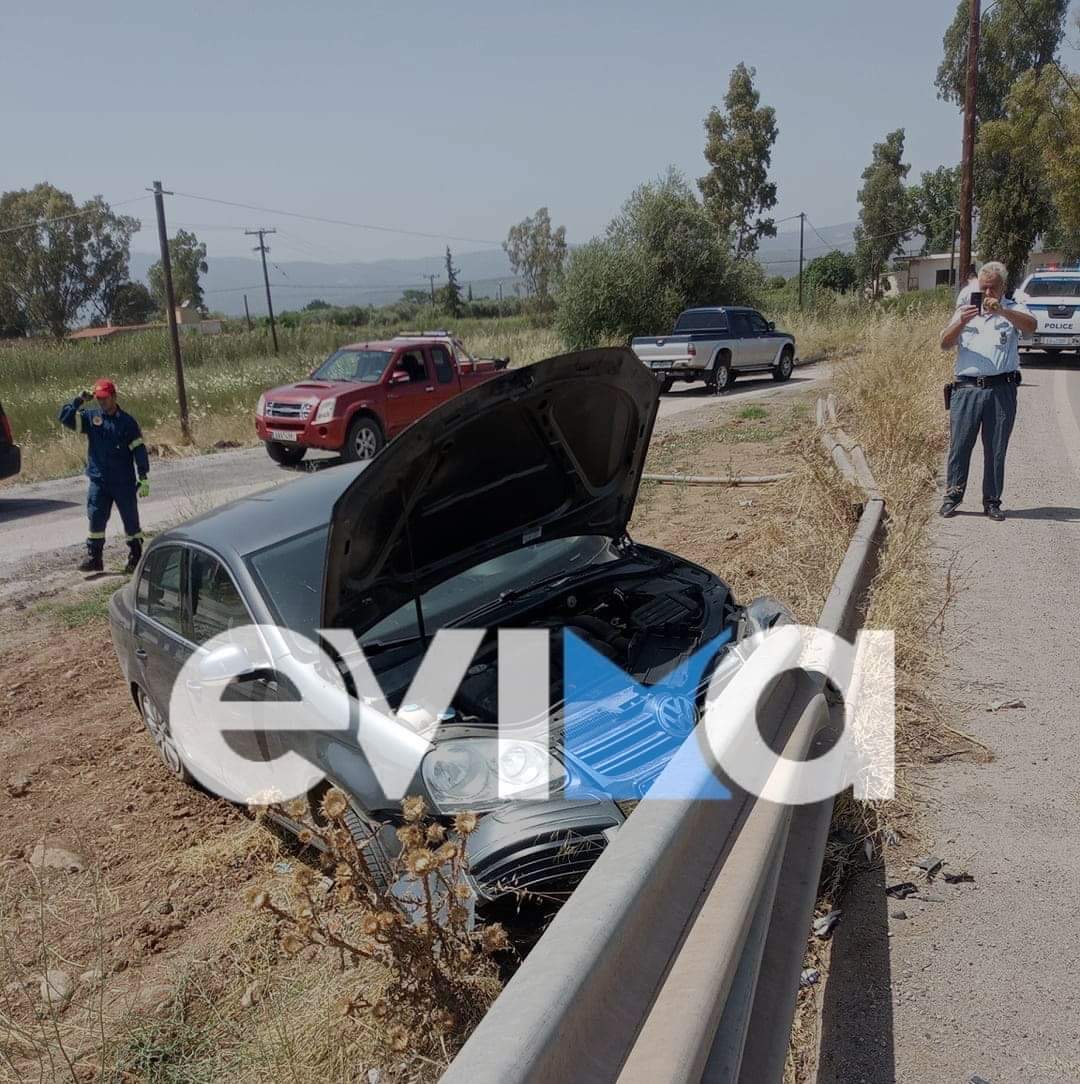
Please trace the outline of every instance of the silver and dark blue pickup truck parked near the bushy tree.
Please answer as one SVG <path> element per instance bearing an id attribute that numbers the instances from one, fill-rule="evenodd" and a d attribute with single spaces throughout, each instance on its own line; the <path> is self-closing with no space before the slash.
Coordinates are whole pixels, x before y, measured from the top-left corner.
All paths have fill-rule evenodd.
<path id="1" fill-rule="evenodd" d="M 798 363 L 795 337 L 754 309 L 717 306 L 686 309 L 670 335 L 635 338 L 633 352 L 668 391 L 676 380 L 704 380 L 724 391 L 743 373 L 772 373 L 786 380 Z"/>

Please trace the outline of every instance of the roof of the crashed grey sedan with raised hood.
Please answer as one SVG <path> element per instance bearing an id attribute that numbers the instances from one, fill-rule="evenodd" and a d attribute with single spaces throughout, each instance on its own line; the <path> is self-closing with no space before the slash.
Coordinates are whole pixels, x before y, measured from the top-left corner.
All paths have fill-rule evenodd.
<path id="1" fill-rule="evenodd" d="M 230 501 L 164 531 L 155 543 L 195 542 L 224 556 L 246 557 L 268 545 L 325 527 L 334 503 L 370 462 L 324 467 Z"/>

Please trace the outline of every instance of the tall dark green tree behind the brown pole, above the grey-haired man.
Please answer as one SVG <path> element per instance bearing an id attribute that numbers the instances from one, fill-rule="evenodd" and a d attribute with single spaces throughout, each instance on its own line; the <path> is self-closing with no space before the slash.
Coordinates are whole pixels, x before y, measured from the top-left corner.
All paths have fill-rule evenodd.
<path id="1" fill-rule="evenodd" d="M 979 137 L 975 159 L 978 251 L 1010 269 L 1011 285 L 1036 241 L 1056 228 L 1055 207 L 1041 157 L 1017 152 L 1026 134 L 1008 131 L 1008 99 L 1029 72 L 1039 75 L 1054 60 L 1065 35 L 1068 0 L 999 0 L 987 7 L 979 28 L 975 111 Z M 961 0 L 946 30 L 937 74 L 938 95 L 963 107 L 967 65 L 967 0 Z M 982 126 L 1003 121 L 988 142 Z M 1012 142 L 1010 140 L 1012 137 Z"/>

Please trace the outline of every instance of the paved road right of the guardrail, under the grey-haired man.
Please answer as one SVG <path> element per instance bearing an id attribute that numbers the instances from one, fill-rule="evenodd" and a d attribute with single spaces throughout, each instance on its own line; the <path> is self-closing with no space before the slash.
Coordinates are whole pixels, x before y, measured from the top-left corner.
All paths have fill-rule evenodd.
<path id="1" fill-rule="evenodd" d="M 886 898 L 925 885 L 905 865 L 854 881 L 819 1084 L 1080 1081 L 1080 370 L 1025 365 L 1003 524 L 981 515 L 981 473 L 977 448 L 960 514 L 931 525 L 941 591 L 950 563 L 961 577 L 935 695 L 993 760 L 915 780 L 924 850 L 975 881 L 938 878 L 926 901 Z"/>

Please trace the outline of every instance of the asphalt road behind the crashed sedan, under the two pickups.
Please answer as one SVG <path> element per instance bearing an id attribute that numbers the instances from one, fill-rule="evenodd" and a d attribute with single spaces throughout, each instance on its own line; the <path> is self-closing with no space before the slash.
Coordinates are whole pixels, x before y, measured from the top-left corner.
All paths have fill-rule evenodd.
<path id="1" fill-rule="evenodd" d="M 821 377 L 820 364 L 800 366 L 790 380 L 777 384 L 770 376 L 745 378 L 722 396 L 709 395 L 704 385 L 687 385 L 660 401 L 658 428 L 678 418 L 694 424 L 733 401 L 787 396 L 805 390 Z M 218 452 L 191 459 L 155 461 L 151 465 L 151 496 L 140 502 L 142 526 L 162 529 L 207 512 L 227 501 L 269 486 L 292 481 L 312 466 L 337 463 L 333 455 L 310 455 L 301 467 L 285 469 L 259 448 Z M 29 598 L 62 585 L 76 564 L 86 540 L 86 479 L 0 487 L 0 603 L 10 597 Z M 123 526 L 115 513 L 108 525 L 106 566 L 115 557 L 123 564 Z"/>

